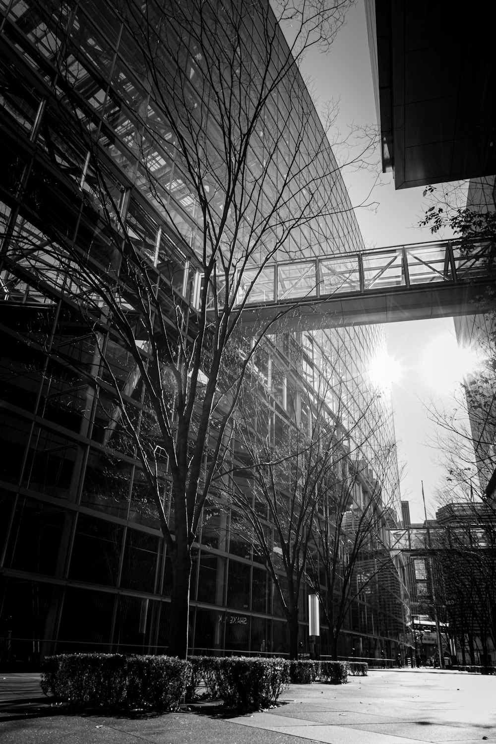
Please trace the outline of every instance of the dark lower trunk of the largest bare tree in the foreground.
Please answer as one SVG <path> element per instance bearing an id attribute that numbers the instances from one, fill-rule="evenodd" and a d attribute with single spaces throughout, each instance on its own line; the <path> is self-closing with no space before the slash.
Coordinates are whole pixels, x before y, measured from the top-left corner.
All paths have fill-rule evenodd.
<path id="1" fill-rule="evenodd" d="M 176 538 L 177 539 L 177 538 Z M 168 655 L 187 658 L 190 612 L 191 554 L 183 541 L 176 543 L 173 564 L 173 589 L 170 595 L 170 630 Z"/>

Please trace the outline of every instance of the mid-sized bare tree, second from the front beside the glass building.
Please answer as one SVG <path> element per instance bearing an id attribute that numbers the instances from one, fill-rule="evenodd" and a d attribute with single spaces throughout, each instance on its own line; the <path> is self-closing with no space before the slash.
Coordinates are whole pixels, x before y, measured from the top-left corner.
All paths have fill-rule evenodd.
<path id="1" fill-rule="evenodd" d="M 288 623 L 291 658 L 298 655 L 303 583 L 319 584 L 323 565 L 320 557 L 329 557 L 329 525 L 335 519 L 342 525 L 343 510 L 350 510 L 353 487 L 365 482 L 356 457 L 358 451 L 364 457 L 367 447 L 363 443 L 358 448 L 355 441 L 364 432 L 371 438 L 375 403 L 374 394 L 370 394 L 368 405 L 345 428 L 344 420 L 349 417 L 347 389 L 338 373 L 338 354 L 331 356 L 326 342 L 319 344 L 315 336 L 309 336 L 303 337 L 297 356 L 295 359 L 292 354 L 289 370 L 277 346 L 267 343 L 252 359 L 252 373 L 245 376 L 235 414 L 235 464 L 231 474 L 232 502 L 242 514 L 238 529 L 244 531 L 248 543 L 253 542 L 271 576 Z M 381 465 L 390 467 L 393 460 Z M 367 463 L 367 472 L 371 466 Z M 337 473 L 347 473 L 340 481 L 343 493 L 347 493 L 341 502 L 341 514 L 335 499 Z M 385 476 L 386 470 L 381 475 Z M 379 498 L 375 502 L 378 506 Z M 370 508 L 373 518 L 369 513 L 366 525 L 362 516 L 358 525 L 355 551 L 361 550 L 362 555 L 366 530 L 370 536 L 373 524 L 384 519 L 384 504 L 381 507 L 380 516 Z M 340 530 L 340 549 L 341 538 Z M 329 557 L 326 563 L 334 560 L 336 556 Z M 355 563 L 352 555 L 349 566 Z M 337 566 L 329 568 L 333 570 Z M 322 594 L 320 586 L 318 593 Z"/>

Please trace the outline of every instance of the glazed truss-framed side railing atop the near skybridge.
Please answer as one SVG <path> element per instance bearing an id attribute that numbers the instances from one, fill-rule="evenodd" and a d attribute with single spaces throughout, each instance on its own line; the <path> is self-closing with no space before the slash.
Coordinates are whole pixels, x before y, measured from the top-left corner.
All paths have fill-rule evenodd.
<path id="1" fill-rule="evenodd" d="M 495 243 L 416 243 L 359 253 L 271 263 L 245 269 L 238 293 L 247 305 L 323 298 L 393 287 L 457 283 L 483 278 L 495 256 Z M 253 286 L 252 286 L 253 285 Z"/>

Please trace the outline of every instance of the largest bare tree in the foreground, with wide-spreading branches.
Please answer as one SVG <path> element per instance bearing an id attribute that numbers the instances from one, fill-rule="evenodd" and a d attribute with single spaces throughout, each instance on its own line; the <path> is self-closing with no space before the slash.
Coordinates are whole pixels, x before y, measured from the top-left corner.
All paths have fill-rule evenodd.
<path id="1" fill-rule="evenodd" d="M 288 43 L 268 2 L 116 1 L 102 28 L 126 64 L 78 7 L 33 0 L 15 19 L 38 30 L 46 82 L 36 147 L 6 141 L 4 292 L 51 306 L 49 353 L 85 381 L 82 431 L 98 408 L 103 445 L 138 468 L 132 498 L 155 504 L 172 560 L 169 652 L 181 657 L 191 547 L 268 330 L 248 343 L 236 325 L 264 267 L 351 209 L 298 72 L 349 4 L 277 4 Z M 80 359 L 76 318 L 91 339 Z"/>

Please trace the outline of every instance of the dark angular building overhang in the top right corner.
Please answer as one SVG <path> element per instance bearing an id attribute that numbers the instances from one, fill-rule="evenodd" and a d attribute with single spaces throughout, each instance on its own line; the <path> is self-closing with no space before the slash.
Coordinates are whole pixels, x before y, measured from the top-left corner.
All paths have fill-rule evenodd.
<path id="1" fill-rule="evenodd" d="M 406 188 L 496 173 L 496 3 L 366 0 L 382 164 Z"/>

